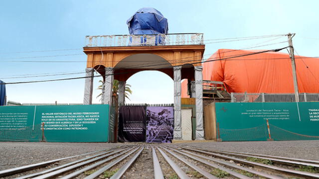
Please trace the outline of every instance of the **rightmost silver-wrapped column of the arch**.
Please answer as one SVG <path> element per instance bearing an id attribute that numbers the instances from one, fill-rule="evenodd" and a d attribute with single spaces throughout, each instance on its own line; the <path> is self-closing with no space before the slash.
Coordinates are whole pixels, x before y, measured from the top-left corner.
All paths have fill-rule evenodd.
<path id="1" fill-rule="evenodd" d="M 202 66 L 195 67 L 195 95 L 196 95 L 196 139 L 204 139 L 203 127 L 203 74 Z"/>

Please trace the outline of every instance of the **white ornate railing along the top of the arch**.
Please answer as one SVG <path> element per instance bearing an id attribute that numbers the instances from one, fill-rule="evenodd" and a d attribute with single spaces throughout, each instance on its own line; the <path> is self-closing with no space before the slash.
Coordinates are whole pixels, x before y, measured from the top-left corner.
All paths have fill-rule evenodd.
<path id="1" fill-rule="evenodd" d="M 86 36 L 85 47 L 202 45 L 203 33 Z"/>

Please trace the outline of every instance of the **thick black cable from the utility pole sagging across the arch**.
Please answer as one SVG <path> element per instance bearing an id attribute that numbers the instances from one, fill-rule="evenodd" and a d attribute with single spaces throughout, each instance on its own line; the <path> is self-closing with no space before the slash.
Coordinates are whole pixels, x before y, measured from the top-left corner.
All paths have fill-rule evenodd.
<path id="1" fill-rule="evenodd" d="M 250 54 L 243 54 L 243 55 L 239 55 L 236 57 L 228 57 L 228 58 L 223 58 L 223 59 L 218 59 L 218 60 L 206 60 L 204 62 L 194 62 L 194 63 L 190 63 L 191 65 L 193 64 L 198 64 L 198 63 L 207 63 L 207 62 L 212 62 L 212 61 L 220 61 L 220 60 L 227 60 L 230 58 L 237 58 L 237 57 L 244 57 L 244 56 L 249 56 L 249 55 L 256 55 L 256 54 L 260 54 L 260 53 L 266 53 L 266 52 L 278 52 L 281 51 L 283 49 L 286 49 L 288 47 L 284 47 L 284 48 L 280 48 L 280 49 L 273 49 L 273 50 L 265 50 L 265 51 L 260 51 L 260 52 L 255 52 L 255 53 L 250 53 Z M 172 66 L 172 67 L 178 67 L 178 66 L 182 66 L 182 65 L 176 65 L 176 66 Z M 143 68 L 140 67 L 140 68 Z M 161 68 L 155 68 L 155 69 L 150 69 L 150 70 L 159 70 Z M 120 75 L 120 74 L 127 74 L 127 73 L 132 73 L 132 72 L 123 72 L 123 73 L 117 73 L 117 74 L 110 74 L 110 75 Z M 105 76 L 109 76 L 109 75 L 105 75 Z M 98 75 L 98 76 L 93 76 L 93 77 L 103 77 L 102 75 Z M 77 80 L 77 79 L 85 79 L 85 78 L 92 78 L 92 77 L 76 77 L 76 78 L 67 78 L 67 79 L 55 79 L 55 80 L 42 80 L 42 81 L 28 81 L 28 82 L 12 82 L 12 83 L 2 83 L 0 85 L 12 85 L 12 84 L 27 84 L 27 83 L 39 83 L 39 82 L 54 82 L 54 81 L 64 81 L 64 80 Z"/>

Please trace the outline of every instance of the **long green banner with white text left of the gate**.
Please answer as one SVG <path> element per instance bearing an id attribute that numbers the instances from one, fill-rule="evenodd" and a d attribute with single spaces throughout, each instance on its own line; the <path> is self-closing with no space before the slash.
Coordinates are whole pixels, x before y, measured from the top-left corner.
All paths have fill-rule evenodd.
<path id="1" fill-rule="evenodd" d="M 0 107 L 2 141 L 108 142 L 108 131 L 109 105 Z"/>

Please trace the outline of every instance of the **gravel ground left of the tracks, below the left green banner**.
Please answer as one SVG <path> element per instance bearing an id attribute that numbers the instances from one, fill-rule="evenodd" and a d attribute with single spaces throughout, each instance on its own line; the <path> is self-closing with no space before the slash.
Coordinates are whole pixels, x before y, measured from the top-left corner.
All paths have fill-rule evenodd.
<path id="1" fill-rule="evenodd" d="M 29 164 L 107 150 L 121 146 L 121 143 L 40 143 L 2 142 L 0 143 L 0 170 Z"/>

